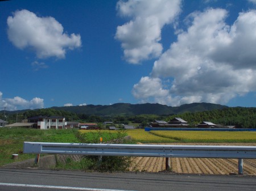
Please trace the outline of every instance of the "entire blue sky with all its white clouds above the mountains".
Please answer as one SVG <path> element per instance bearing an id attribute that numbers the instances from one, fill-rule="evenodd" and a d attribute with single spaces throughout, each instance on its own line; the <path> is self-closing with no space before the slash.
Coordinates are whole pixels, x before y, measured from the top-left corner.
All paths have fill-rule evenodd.
<path id="1" fill-rule="evenodd" d="M 256 107 L 256 1 L 0 2 L 0 111 Z"/>

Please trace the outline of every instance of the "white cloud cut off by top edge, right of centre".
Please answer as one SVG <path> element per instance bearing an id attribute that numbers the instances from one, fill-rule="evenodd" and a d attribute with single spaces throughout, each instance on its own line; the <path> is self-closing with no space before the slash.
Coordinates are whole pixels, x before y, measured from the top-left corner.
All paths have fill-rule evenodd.
<path id="1" fill-rule="evenodd" d="M 131 20 L 117 27 L 115 39 L 121 41 L 125 60 L 139 63 L 162 54 L 161 30 L 174 22 L 180 12 L 180 0 L 119 1 L 119 15 Z"/>

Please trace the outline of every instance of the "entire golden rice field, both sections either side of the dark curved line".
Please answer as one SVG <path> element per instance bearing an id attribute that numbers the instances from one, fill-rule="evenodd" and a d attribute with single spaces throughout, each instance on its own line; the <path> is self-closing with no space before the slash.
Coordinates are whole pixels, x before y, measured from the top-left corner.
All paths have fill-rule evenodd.
<path id="1" fill-rule="evenodd" d="M 256 143 L 255 131 L 144 131 L 127 130 L 141 143 Z"/>

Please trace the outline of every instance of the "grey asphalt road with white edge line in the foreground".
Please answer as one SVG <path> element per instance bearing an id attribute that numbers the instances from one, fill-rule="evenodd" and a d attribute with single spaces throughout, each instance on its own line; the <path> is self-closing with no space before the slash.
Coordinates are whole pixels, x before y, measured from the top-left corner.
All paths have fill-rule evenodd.
<path id="1" fill-rule="evenodd" d="M 256 190 L 256 177 L 0 168 L 0 190 Z"/>

